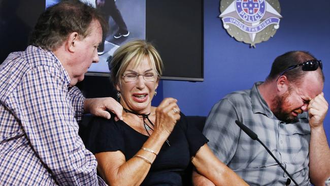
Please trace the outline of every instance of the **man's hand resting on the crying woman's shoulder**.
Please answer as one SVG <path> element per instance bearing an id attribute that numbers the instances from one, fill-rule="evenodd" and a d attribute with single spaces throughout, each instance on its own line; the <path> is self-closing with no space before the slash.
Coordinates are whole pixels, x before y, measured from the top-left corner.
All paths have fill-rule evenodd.
<path id="1" fill-rule="evenodd" d="M 113 98 L 90 98 L 85 99 L 84 110 L 95 116 L 101 116 L 110 119 L 111 115 L 107 110 L 116 114 L 115 119 L 122 120 L 122 106 Z"/>

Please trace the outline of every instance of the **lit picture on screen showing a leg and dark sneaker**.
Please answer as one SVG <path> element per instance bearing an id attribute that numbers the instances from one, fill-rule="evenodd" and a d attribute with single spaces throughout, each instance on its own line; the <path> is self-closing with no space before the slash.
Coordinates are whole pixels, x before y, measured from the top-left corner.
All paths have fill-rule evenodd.
<path id="1" fill-rule="evenodd" d="M 60 0 L 46 0 L 46 8 Z M 146 0 L 81 0 L 100 9 L 109 23 L 109 32 L 97 52 L 100 60 L 86 75 L 109 75 L 108 58 L 127 41 L 146 38 Z"/>

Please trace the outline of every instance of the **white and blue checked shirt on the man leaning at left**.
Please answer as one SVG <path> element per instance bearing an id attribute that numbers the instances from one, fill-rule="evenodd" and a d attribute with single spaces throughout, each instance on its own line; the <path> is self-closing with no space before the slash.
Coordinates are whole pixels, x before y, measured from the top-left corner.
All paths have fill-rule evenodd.
<path id="1" fill-rule="evenodd" d="M 56 56 L 34 46 L 0 66 L 0 185 L 104 184 L 78 136 L 84 97 L 69 84 Z"/>

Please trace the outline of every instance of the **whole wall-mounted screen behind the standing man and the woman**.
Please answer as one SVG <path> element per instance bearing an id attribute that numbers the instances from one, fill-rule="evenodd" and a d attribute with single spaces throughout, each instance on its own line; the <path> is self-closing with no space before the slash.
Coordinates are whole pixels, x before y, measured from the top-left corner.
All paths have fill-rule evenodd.
<path id="1" fill-rule="evenodd" d="M 39 15 L 58 1 L 0 0 L 0 63 L 10 52 L 26 48 Z M 163 59 L 162 79 L 203 81 L 202 0 L 81 1 L 99 8 L 110 25 L 104 47 L 99 48 L 100 61 L 86 75 L 109 76 L 108 57 L 127 41 L 146 39 Z"/>

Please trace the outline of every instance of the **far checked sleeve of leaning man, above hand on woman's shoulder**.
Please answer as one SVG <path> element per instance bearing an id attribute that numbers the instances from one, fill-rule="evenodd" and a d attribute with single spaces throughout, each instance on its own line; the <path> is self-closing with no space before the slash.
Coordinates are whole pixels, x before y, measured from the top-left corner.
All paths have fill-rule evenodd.
<path id="1" fill-rule="evenodd" d="M 77 86 L 73 86 L 69 88 L 69 98 L 72 104 L 72 107 L 75 111 L 75 118 L 79 123 L 84 114 L 84 102 L 85 97 L 82 95 L 81 91 Z"/>

